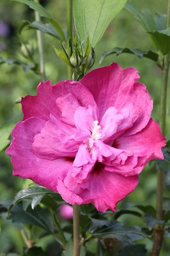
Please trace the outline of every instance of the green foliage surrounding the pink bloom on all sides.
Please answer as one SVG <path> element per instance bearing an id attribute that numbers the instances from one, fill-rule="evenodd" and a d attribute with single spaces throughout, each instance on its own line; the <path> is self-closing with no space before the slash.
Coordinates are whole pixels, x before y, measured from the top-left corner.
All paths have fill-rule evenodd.
<path id="1" fill-rule="evenodd" d="M 10 132 L 15 121 L 20 119 L 20 106 L 14 104 L 15 100 L 24 93 L 35 92 L 35 85 L 40 80 L 39 65 L 37 64 L 39 61 L 38 51 L 34 52 L 33 59 L 28 58 L 26 60 L 23 54 L 19 54 L 16 47 L 17 42 L 23 42 L 23 39 L 27 44 L 30 38 L 35 38 L 35 30 L 40 30 L 43 33 L 47 75 L 55 82 L 56 76 L 58 76 L 58 80 L 66 79 L 66 76 L 65 66 L 61 61 L 54 58 L 53 45 L 55 45 L 58 57 L 64 60 L 69 67 L 77 70 L 77 79 L 81 78 L 82 73 L 87 72 L 94 64 L 93 47 L 95 47 L 97 55 L 96 60 L 99 59 L 101 52 L 104 52 L 100 62 L 109 63 L 109 60 L 115 60 L 113 56 L 116 54 L 118 56 L 116 58 L 124 66 L 138 66 L 137 68 L 145 77 L 148 90 L 155 101 L 153 116 L 158 120 L 158 89 L 160 84 L 158 72 L 160 70 L 155 67 L 155 63 L 162 68 L 164 56 L 170 50 L 170 34 L 169 28 L 166 29 L 166 15 L 157 13 L 153 16 L 146 11 L 141 11 L 141 8 L 137 8 L 134 4 L 127 3 L 125 8 L 130 12 L 130 18 L 128 19 L 128 12 L 124 10 L 109 26 L 111 20 L 120 12 L 126 1 L 94 1 L 91 3 L 91 1 L 81 0 L 81 4 L 79 4 L 80 1 L 76 0 L 73 8 L 77 34 L 75 33 L 73 44 L 70 44 L 69 38 L 66 38 L 65 29 L 63 29 L 66 26 L 63 22 L 65 16 L 63 15 L 65 12 L 64 2 L 56 4 L 55 1 L 52 1 L 43 7 L 34 1 L 13 1 L 24 3 L 24 5 L 16 4 L 15 7 L 14 3 L 10 3 L 10 5 L 6 1 L 0 3 L 1 7 L 3 5 L 10 6 L 10 10 L 14 6 L 12 11 L 14 15 L 6 15 L 5 20 L 9 24 L 12 22 L 13 31 L 19 29 L 20 25 L 21 33 L 20 35 L 15 33 L 14 37 L 9 35 L 9 37 L 4 38 L 6 53 L 2 52 L 0 57 L 0 64 L 2 64 L 0 66 L 0 78 L 3 81 L 0 88 L 2 110 L 0 118 L 2 124 L 8 123 L 8 125 L 0 127 L 0 150 L 3 150 L 10 143 Z M 40 3 L 44 4 L 45 1 L 44 3 L 40 1 Z M 140 4 L 142 8 L 143 4 L 147 5 L 145 2 L 137 3 L 139 7 Z M 164 12 L 162 3 L 152 1 L 148 4 L 150 4 L 153 13 L 157 10 Z M 28 7 L 31 8 L 31 12 Z M 96 12 L 93 8 L 96 8 Z M 34 10 L 42 17 L 41 21 L 34 20 Z M 50 15 L 49 13 L 52 12 L 57 14 Z M 143 30 L 140 30 L 140 26 L 138 27 L 137 23 L 132 21 L 131 14 L 139 20 L 146 31 L 145 34 Z M 11 20 L 10 17 L 13 17 L 14 20 Z M 23 22 L 18 20 L 23 20 Z M 129 31 L 133 31 L 133 33 L 130 35 Z M 104 32 L 105 35 L 103 36 Z M 148 38 L 151 38 L 152 44 Z M 61 46 L 59 41 L 62 42 Z M 83 49 L 80 45 L 83 46 Z M 119 47 L 116 47 L 117 45 Z M 154 46 L 155 49 L 153 49 Z M 121 56 L 123 53 L 130 54 L 130 56 L 125 58 L 123 55 Z M 146 60 L 135 59 L 135 56 L 138 59 L 146 58 Z M 88 57 L 91 58 L 90 61 Z M 152 61 L 147 61 L 147 58 Z M 75 62 L 73 63 L 72 60 Z M 3 65 L 4 63 L 7 65 Z M 89 67 L 87 67 L 87 63 Z M 15 65 L 22 67 L 27 73 L 24 74 L 22 69 Z M 98 65 L 97 62 L 94 65 Z M 81 67 L 81 72 L 79 72 L 79 67 Z M 9 77 L 11 78 L 9 79 Z M 170 125 L 169 117 L 167 123 Z M 157 161 L 158 168 L 164 169 L 167 189 L 170 188 L 169 152 L 168 142 L 167 147 L 163 149 L 164 160 Z M 64 203 L 62 198 L 57 193 L 35 184 L 23 189 L 23 182 L 11 177 L 9 158 L 7 159 L 4 152 L 1 152 L 1 159 L 0 191 L 3 200 L 0 202 L 2 230 L 0 253 L 2 256 L 3 254 L 8 256 L 72 255 L 72 221 L 62 220 L 58 212 L 59 205 Z M 81 205 L 81 256 L 109 256 L 109 253 L 120 256 L 147 255 L 147 251 L 150 253 L 155 224 L 165 226 L 166 239 L 162 255 L 167 255 L 170 237 L 169 192 L 165 188 L 164 221 L 158 221 L 155 216 L 155 209 L 151 206 L 155 204 L 154 168 L 155 163 L 146 167 L 147 173 L 144 172 L 141 175 L 139 188 L 136 189 L 135 195 L 128 196 L 128 201 L 134 202 L 134 205 L 127 205 L 125 200 L 116 213 L 107 211 L 105 214 L 95 211 L 93 205 Z M 4 200 L 6 198 L 11 199 L 14 195 L 16 195 L 14 200 Z M 138 202 L 140 205 L 137 205 Z M 31 248 L 26 248 L 27 243 L 31 243 Z M 54 253 L 52 248 L 54 248 Z"/>

